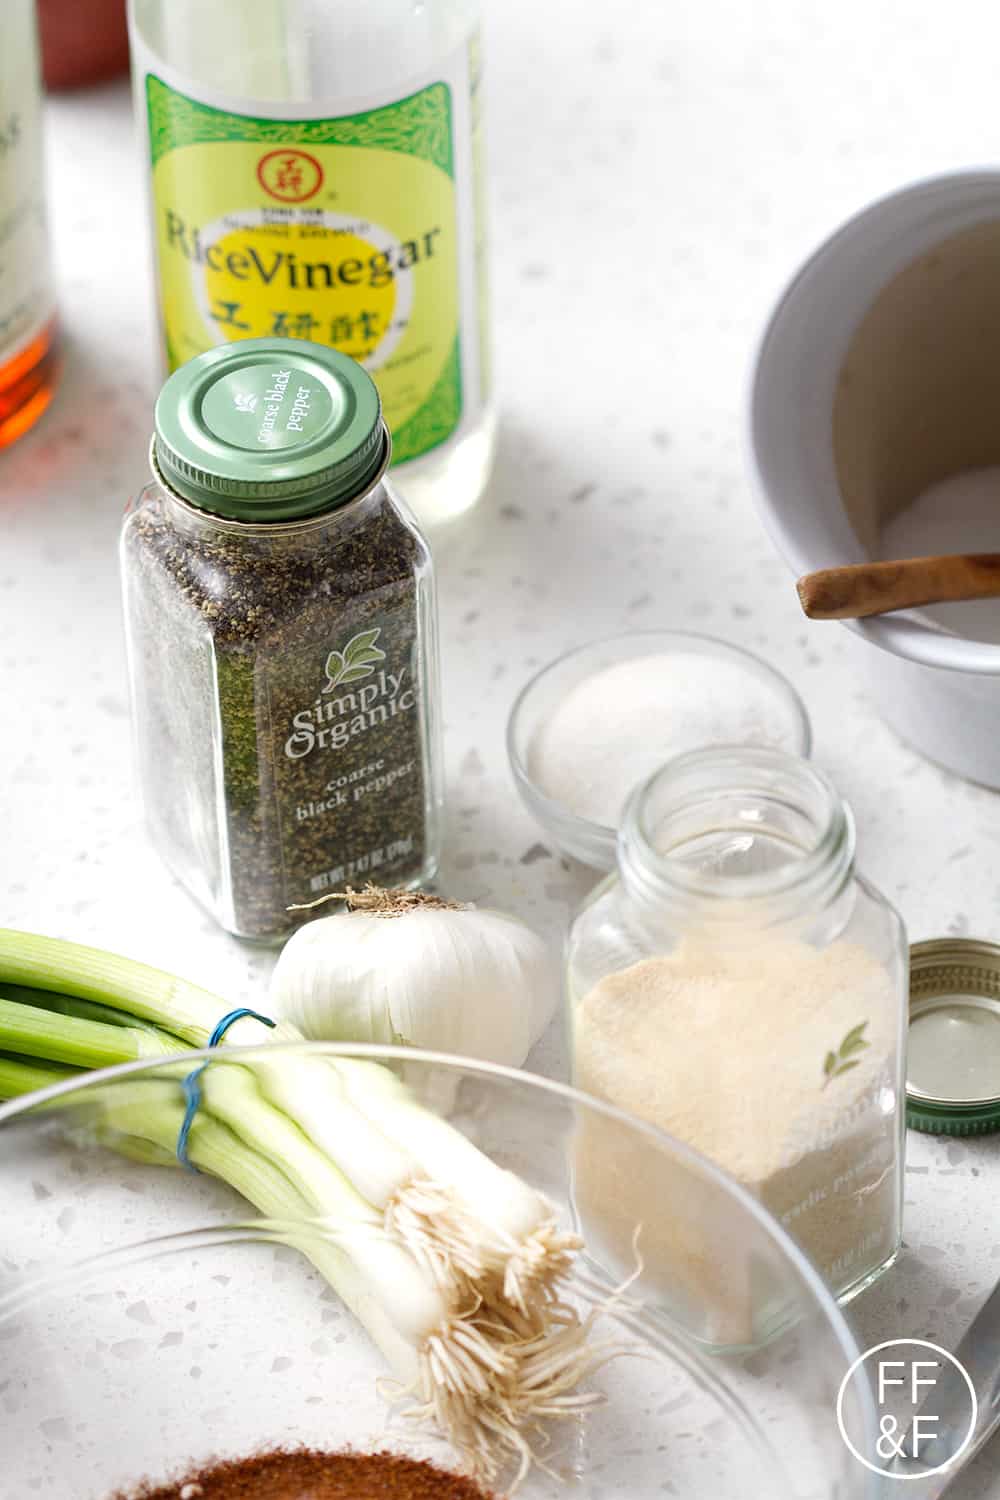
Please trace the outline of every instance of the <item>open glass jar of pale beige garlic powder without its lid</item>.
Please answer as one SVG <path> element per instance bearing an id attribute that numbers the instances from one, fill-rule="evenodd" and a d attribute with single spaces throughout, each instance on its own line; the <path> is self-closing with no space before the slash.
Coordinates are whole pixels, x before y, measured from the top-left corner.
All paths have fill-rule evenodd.
<path id="1" fill-rule="evenodd" d="M 574 1083 L 717 1161 L 850 1296 L 900 1246 L 907 969 L 829 780 L 783 750 L 691 752 L 633 794 L 618 873 L 570 928 Z M 726 1245 L 694 1209 L 661 1218 L 745 1342 Z"/>

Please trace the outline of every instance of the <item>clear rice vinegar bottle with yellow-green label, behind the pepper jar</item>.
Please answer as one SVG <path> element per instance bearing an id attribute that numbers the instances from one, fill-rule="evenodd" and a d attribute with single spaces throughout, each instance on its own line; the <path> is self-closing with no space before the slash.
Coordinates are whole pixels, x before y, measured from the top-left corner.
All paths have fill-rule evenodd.
<path id="1" fill-rule="evenodd" d="M 130 0 L 166 364 L 349 354 L 427 526 L 493 458 L 478 24 L 480 0 Z"/>

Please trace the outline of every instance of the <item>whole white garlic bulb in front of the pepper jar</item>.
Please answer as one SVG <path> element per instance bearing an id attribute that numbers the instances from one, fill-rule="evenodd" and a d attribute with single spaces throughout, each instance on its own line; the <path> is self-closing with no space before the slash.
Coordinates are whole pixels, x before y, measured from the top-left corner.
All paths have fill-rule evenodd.
<path id="1" fill-rule="evenodd" d="M 369 886 L 289 938 L 270 998 L 313 1041 L 397 1042 L 517 1068 L 556 994 L 546 944 L 516 916 Z"/>

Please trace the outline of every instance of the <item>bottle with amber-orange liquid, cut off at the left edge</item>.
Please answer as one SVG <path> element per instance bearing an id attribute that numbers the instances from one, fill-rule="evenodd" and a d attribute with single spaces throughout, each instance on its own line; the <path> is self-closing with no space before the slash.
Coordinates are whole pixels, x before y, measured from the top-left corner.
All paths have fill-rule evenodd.
<path id="1" fill-rule="evenodd" d="M 37 422 L 57 374 L 34 0 L 6 0 L 0 39 L 0 448 Z"/>

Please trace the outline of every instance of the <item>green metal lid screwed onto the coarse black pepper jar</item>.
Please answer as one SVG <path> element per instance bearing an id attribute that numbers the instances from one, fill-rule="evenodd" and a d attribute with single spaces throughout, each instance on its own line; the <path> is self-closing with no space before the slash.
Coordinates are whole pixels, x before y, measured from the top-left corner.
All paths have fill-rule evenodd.
<path id="1" fill-rule="evenodd" d="M 234 520 L 294 520 L 340 506 L 370 488 L 387 444 L 367 370 L 303 339 L 207 350 L 156 402 L 163 480 Z"/>

